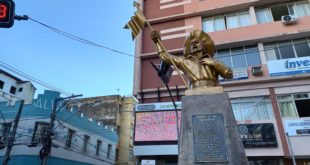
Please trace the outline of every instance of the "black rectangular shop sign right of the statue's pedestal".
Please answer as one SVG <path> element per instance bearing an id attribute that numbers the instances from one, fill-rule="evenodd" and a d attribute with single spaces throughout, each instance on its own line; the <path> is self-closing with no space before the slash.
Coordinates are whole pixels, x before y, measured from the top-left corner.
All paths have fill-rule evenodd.
<path id="1" fill-rule="evenodd" d="M 239 133 L 244 148 L 278 146 L 272 123 L 240 124 Z"/>

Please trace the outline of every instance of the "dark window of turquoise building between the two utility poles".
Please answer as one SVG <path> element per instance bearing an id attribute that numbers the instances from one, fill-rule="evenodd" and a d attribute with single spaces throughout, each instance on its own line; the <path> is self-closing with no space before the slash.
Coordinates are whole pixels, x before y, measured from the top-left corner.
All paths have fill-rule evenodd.
<path id="1" fill-rule="evenodd" d="M 48 129 L 49 123 L 44 122 L 36 122 L 34 126 L 34 132 L 32 136 L 32 143 L 37 144 L 45 144 L 46 143 L 46 134 Z"/>

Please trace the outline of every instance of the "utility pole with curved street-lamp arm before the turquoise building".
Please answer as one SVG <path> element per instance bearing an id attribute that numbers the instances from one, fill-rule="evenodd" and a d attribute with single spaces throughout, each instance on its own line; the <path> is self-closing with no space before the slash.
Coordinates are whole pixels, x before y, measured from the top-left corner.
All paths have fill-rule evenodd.
<path id="1" fill-rule="evenodd" d="M 62 101 L 62 100 L 66 100 L 66 99 L 72 99 L 75 97 L 81 97 L 82 95 L 72 95 L 69 97 L 64 97 L 64 98 L 55 98 L 54 100 L 54 104 L 53 104 L 53 109 L 52 109 L 52 113 L 51 113 L 51 120 L 50 123 L 48 125 L 46 134 L 45 134 L 45 144 L 43 145 L 42 149 L 40 150 L 40 158 L 41 158 L 41 165 L 46 165 L 47 164 L 47 158 L 48 155 L 51 152 L 52 149 L 52 135 L 53 135 L 53 127 L 54 127 L 54 122 L 56 119 L 56 113 L 57 113 L 57 103 L 58 101 Z"/>

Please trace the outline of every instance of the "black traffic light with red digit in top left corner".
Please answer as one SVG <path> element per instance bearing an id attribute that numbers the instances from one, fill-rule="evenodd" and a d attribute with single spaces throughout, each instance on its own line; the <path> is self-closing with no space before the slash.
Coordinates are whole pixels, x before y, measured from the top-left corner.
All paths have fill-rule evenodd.
<path id="1" fill-rule="evenodd" d="M 0 28 L 10 28 L 14 24 L 15 4 L 12 0 L 0 0 Z"/>

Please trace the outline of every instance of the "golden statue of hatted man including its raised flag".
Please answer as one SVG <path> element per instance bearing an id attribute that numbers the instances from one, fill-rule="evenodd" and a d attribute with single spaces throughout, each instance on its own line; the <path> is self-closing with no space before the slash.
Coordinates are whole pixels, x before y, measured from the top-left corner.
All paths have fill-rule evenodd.
<path id="1" fill-rule="evenodd" d="M 132 30 L 133 39 L 139 35 L 145 25 L 151 29 L 151 38 L 156 45 L 159 57 L 165 63 L 173 65 L 187 89 L 191 89 L 189 92 L 192 92 L 187 91 L 186 95 L 223 92 L 223 88 L 219 86 L 218 76 L 231 79 L 233 77 L 232 70 L 222 62 L 213 59 L 214 42 L 208 34 L 199 30 L 192 31 L 185 40 L 184 56 L 171 55 L 161 43 L 159 33 L 153 30 L 143 15 L 140 4 L 134 2 L 134 6 L 137 11 L 124 28 Z M 186 75 L 190 85 L 184 80 L 179 69 Z"/>

